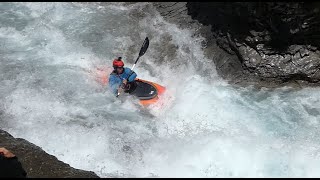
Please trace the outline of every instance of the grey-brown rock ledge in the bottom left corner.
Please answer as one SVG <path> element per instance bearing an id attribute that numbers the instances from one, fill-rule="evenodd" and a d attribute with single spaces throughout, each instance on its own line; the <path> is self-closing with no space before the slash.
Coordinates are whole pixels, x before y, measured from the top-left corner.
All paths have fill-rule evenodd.
<path id="1" fill-rule="evenodd" d="M 0 147 L 18 157 L 28 178 L 99 178 L 94 172 L 72 168 L 40 147 L 0 130 Z"/>

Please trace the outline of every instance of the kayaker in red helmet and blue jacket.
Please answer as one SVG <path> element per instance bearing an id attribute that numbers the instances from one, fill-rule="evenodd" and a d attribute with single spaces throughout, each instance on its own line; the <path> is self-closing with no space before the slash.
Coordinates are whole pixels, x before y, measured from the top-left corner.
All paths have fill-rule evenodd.
<path id="1" fill-rule="evenodd" d="M 137 74 L 134 71 L 131 71 L 130 68 L 124 67 L 124 63 L 121 57 L 113 60 L 114 70 L 109 76 L 109 88 L 114 94 L 122 92 L 125 93 L 131 92 L 134 83 L 134 79 L 137 77 Z"/>

